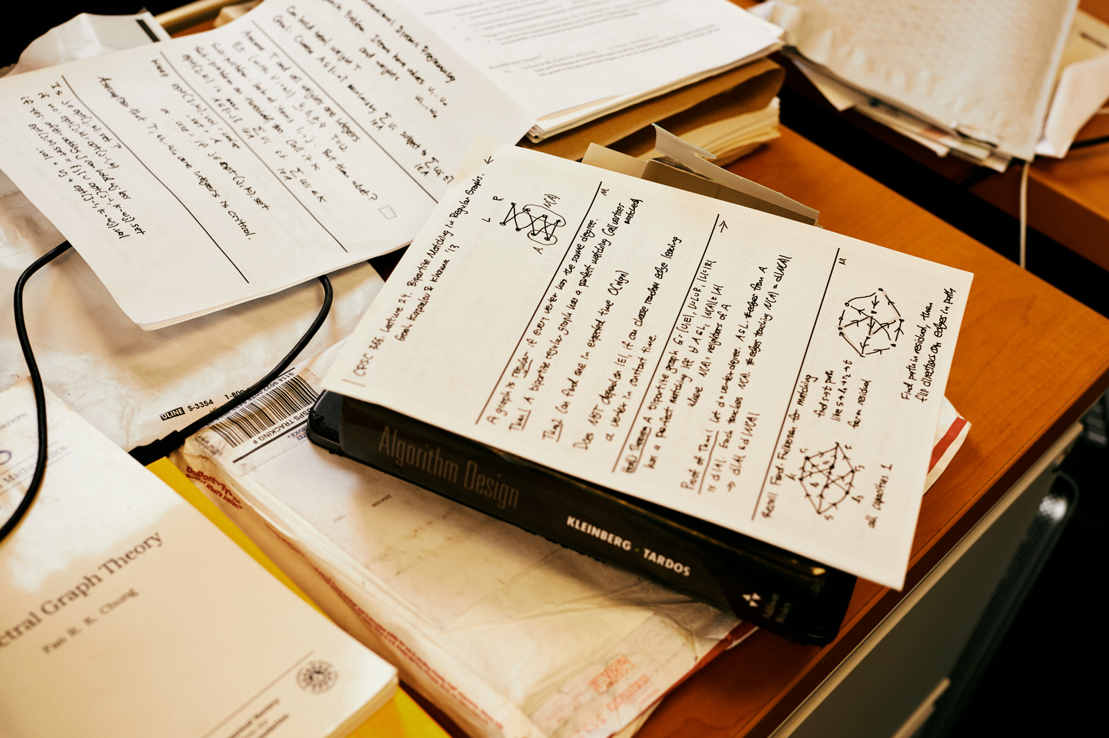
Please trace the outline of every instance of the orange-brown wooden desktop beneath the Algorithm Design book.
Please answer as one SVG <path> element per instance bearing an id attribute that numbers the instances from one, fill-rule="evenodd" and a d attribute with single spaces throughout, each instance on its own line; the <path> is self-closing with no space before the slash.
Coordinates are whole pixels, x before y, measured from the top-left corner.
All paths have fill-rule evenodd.
<path id="1" fill-rule="evenodd" d="M 975 274 L 947 388 L 973 428 L 924 498 L 908 590 L 1109 385 L 1109 320 L 790 130 L 730 168 L 820 209 L 830 230 Z M 769 735 L 901 597 L 861 581 L 823 648 L 756 633 L 667 697 L 639 736 Z"/>

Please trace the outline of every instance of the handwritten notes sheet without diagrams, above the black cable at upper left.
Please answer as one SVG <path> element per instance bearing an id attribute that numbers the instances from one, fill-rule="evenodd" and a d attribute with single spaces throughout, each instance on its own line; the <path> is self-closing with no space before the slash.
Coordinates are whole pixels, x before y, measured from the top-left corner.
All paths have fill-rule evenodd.
<path id="1" fill-rule="evenodd" d="M 530 123 L 404 3 L 271 0 L 0 80 L 0 170 L 159 328 L 398 248 Z"/>

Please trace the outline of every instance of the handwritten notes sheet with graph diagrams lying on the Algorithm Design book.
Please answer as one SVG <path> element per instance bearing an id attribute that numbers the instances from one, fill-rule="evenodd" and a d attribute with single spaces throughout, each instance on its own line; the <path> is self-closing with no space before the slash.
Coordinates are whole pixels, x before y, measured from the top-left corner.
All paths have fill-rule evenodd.
<path id="1" fill-rule="evenodd" d="M 489 142 L 324 387 L 899 587 L 970 281 Z"/>

